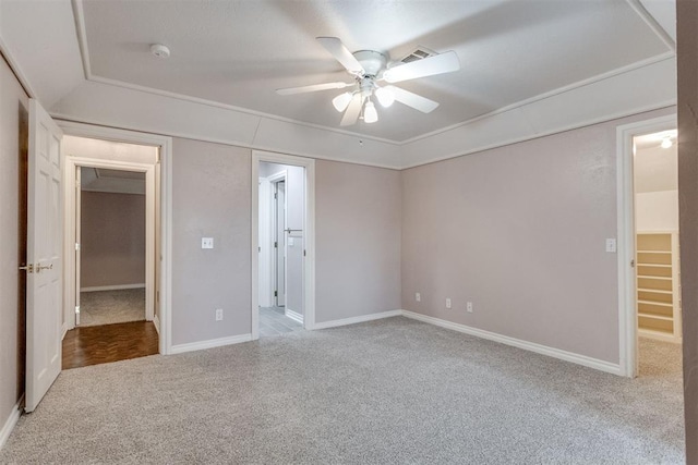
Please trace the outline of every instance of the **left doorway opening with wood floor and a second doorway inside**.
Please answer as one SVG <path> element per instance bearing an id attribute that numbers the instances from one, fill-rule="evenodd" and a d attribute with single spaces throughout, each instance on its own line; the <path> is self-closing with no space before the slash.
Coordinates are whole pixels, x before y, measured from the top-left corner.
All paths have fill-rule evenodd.
<path id="1" fill-rule="evenodd" d="M 158 353 L 159 148 L 63 138 L 63 368 Z"/>

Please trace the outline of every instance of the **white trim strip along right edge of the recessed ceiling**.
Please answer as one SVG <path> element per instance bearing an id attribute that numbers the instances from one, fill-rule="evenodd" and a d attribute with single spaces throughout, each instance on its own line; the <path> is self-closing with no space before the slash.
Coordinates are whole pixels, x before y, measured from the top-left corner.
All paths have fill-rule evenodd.
<path id="1" fill-rule="evenodd" d="M 580 88 L 580 87 L 585 87 L 585 86 L 588 86 L 588 85 L 591 85 L 591 84 L 594 84 L 594 83 L 599 83 L 601 81 L 605 81 L 605 79 L 609 79 L 611 77 L 614 77 L 614 76 L 617 76 L 617 75 L 621 75 L 621 74 L 630 73 L 630 72 L 633 72 L 635 70 L 639 70 L 640 68 L 645 68 L 645 66 L 648 66 L 650 64 L 659 63 L 659 62 L 662 62 L 662 61 L 665 61 L 665 60 L 671 60 L 675 56 L 676 56 L 675 52 L 667 51 L 667 52 L 659 54 L 657 57 L 652 57 L 652 58 L 649 58 L 647 60 L 638 61 L 636 63 L 628 64 L 627 66 L 617 68 L 617 69 L 609 71 L 606 73 L 599 74 L 597 76 L 592 76 L 592 77 L 589 77 L 589 78 L 583 79 L 583 81 L 578 81 L 576 83 L 569 84 L 569 85 L 564 86 L 564 87 L 559 87 L 557 89 L 554 89 L 554 90 L 551 90 L 551 91 L 547 91 L 547 93 L 544 93 L 544 94 L 537 95 L 537 96 L 528 98 L 526 100 L 517 101 L 516 103 L 512 103 L 509 106 L 498 108 L 498 109 L 490 111 L 488 113 L 483 113 L 483 114 L 481 114 L 479 117 L 471 118 L 470 120 L 462 121 L 462 122 L 456 123 L 456 124 L 452 124 L 450 126 L 442 127 L 442 129 L 438 129 L 436 131 L 432 131 L 432 132 L 426 133 L 426 134 L 421 134 L 421 135 L 416 136 L 416 137 L 411 137 L 409 139 L 406 139 L 406 140 L 402 140 L 402 142 L 398 143 L 398 145 L 410 144 L 410 143 L 413 143 L 413 142 L 417 142 L 417 140 L 421 140 L 421 139 L 424 139 L 424 138 L 428 138 L 428 137 L 432 137 L 432 136 L 435 136 L 435 135 L 438 135 L 438 134 L 442 134 L 442 133 L 445 133 L 445 132 L 448 132 L 448 131 L 452 131 L 452 130 L 455 130 L 455 129 L 458 129 L 458 127 L 461 127 L 461 126 L 466 126 L 468 124 L 472 124 L 472 123 L 478 122 L 480 120 L 484 120 L 486 118 L 491 118 L 491 117 L 497 115 L 500 113 L 504 113 L 504 112 L 507 112 L 507 111 L 510 111 L 510 110 L 515 110 L 517 108 L 521 108 L 521 107 L 525 107 L 525 106 L 530 105 L 530 103 L 534 103 L 534 102 L 540 101 L 540 100 L 545 100 L 546 98 L 554 97 L 556 95 L 565 94 L 565 93 L 568 93 L 570 90 L 574 90 L 574 89 L 577 89 L 577 88 Z"/>

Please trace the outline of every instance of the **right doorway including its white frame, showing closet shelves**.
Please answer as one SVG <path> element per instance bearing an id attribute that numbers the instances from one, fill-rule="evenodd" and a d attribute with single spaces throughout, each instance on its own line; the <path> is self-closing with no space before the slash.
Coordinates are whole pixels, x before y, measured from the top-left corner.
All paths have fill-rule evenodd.
<path id="1" fill-rule="evenodd" d="M 619 374 L 681 382 L 676 115 L 617 139 Z"/>

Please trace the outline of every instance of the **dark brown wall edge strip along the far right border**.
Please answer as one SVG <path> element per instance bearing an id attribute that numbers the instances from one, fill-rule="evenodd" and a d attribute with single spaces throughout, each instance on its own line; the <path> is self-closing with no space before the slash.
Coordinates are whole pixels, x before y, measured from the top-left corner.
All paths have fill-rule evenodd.
<path id="1" fill-rule="evenodd" d="M 698 463 L 698 3 L 678 0 L 676 16 L 686 463 L 695 464 Z"/>

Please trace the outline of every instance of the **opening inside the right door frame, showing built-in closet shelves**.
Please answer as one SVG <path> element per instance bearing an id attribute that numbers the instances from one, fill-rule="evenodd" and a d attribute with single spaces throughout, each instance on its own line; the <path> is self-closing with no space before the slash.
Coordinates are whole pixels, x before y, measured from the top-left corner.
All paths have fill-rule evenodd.
<path id="1" fill-rule="evenodd" d="M 682 372 L 677 131 L 633 138 L 638 376 Z"/>

